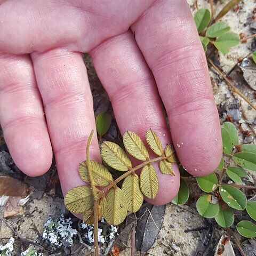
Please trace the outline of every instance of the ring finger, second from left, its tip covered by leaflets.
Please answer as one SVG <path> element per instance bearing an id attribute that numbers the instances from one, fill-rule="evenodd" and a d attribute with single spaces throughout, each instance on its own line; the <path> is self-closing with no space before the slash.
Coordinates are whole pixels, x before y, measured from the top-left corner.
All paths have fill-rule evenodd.
<path id="1" fill-rule="evenodd" d="M 37 84 L 57 163 L 63 194 L 85 185 L 78 165 L 85 160 L 86 145 L 95 129 L 92 94 L 82 54 L 61 49 L 32 54 Z M 100 161 L 94 134 L 90 158 Z"/>

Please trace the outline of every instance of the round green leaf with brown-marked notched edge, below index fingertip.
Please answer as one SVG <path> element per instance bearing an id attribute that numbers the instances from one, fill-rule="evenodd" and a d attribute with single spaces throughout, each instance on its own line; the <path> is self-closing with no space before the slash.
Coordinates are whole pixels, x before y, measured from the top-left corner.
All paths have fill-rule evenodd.
<path id="1" fill-rule="evenodd" d="M 211 195 L 203 195 L 196 202 L 198 213 L 205 218 L 214 218 L 220 210 L 219 203 L 211 204 L 211 199 Z"/>

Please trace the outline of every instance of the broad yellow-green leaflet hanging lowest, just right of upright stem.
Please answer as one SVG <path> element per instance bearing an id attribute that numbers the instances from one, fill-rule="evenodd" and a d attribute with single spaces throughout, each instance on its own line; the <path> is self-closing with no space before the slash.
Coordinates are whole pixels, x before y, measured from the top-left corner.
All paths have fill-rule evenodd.
<path id="1" fill-rule="evenodd" d="M 118 225 L 124 221 L 127 214 L 127 202 L 122 189 L 111 188 L 106 196 L 107 207 L 104 218 L 109 224 Z"/>

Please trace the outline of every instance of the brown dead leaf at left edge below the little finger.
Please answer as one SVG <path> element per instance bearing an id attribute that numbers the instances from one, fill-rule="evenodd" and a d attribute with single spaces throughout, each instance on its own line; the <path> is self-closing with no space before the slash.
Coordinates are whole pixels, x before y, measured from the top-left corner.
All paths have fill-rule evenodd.
<path id="1" fill-rule="evenodd" d="M 0 176 L 0 196 L 27 196 L 28 185 L 9 176 Z"/>

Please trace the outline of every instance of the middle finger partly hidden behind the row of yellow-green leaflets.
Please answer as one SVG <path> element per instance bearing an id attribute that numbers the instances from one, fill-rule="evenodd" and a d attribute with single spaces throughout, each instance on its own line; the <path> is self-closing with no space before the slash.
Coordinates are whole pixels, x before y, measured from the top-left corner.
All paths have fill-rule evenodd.
<path id="1" fill-rule="evenodd" d="M 171 137 L 154 77 L 131 31 L 105 41 L 91 52 L 91 56 L 111 100 L 121 133 L 133 131 L 145 142 L 145 132 L 151 128 L 163 146 L 170 143 Z M 157 163 L 155 167 L 159 180 L 158 194 L 154 200 L 147 201 L 169 203 L 179 189 L 178 167 L 174 165 L 175 176 L 162 174 Z"/>

